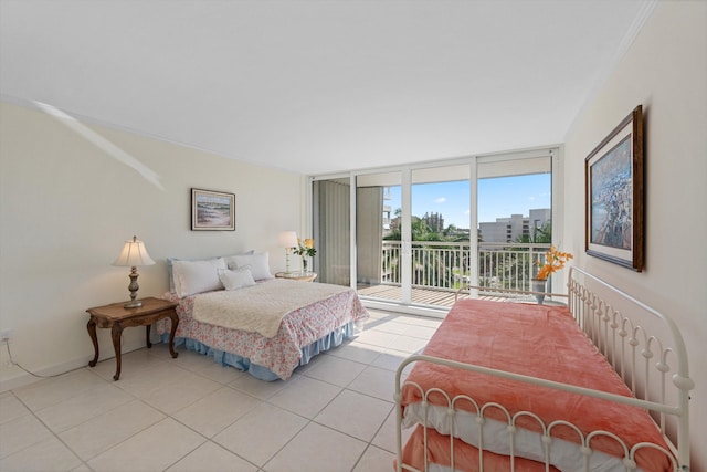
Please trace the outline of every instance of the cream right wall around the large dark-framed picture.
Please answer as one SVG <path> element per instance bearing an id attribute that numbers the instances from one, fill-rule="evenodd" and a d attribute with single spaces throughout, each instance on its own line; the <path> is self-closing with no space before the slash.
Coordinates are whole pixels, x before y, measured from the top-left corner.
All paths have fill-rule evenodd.
<path id="1" fill-rule="evenodd" d="M 645 270 L 584 255 L 584 158 L 636 105 L 645 118 Z M 658 2 L 566 144 L 566 249 L 672 315 L 687 344 L 693 470 L 707 470 L 707 2 Z"/>

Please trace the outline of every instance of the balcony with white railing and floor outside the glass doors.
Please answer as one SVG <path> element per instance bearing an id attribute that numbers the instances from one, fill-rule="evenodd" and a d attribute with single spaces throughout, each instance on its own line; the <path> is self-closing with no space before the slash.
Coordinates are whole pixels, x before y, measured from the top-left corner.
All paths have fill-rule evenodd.
<path id="1" fill-rule="evenodd" d="M 545 262 L 550 244 L 478 243 L 472 256 L 466 242 L 414 241 L 411 243 L 412 303 L 449 307 L 458 289 L 473 281 L 478 296 L 492 300 L 530 298 L 527 294 L 504 291 L 530 291 L 535 263 Z M 402 302 L 400 241 L 383 241 L 381 276 L 378 283 L 358 285 L 361 296 Z M 548 287 L 551 292 L 551 287 Z"/>

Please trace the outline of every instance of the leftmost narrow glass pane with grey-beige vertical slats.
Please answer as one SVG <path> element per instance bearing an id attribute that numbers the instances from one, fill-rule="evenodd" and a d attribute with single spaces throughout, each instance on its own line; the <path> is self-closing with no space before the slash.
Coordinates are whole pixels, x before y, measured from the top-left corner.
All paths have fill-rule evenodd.
<path id="1" fill-rule="evenodd" d="M 313 182 L 317 281 L 351 285 L 351 186 L 349 179 Z"/>

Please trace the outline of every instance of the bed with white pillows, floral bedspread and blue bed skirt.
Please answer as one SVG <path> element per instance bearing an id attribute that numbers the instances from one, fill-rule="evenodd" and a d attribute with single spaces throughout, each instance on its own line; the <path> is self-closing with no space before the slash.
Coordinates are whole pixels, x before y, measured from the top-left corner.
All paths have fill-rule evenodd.
<path id="1" fill-rule="evenodd" d="M 175 346 L 252 376 L 287 380 L 317 354 L 355 336 L 368 312 L 350 287 L 274 279 L 267 256 L 242 254 L 168 264 L 178 303 Z M 171 322 L 156 331 L 162 342 Z"/>

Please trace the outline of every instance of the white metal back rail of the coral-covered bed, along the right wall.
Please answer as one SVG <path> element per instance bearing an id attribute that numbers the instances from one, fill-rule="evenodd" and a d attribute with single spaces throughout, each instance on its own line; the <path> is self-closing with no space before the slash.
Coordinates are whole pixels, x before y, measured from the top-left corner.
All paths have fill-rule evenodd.
<path id="1" fill-rule="evenodd" d="M 601 289 L 602 295 L 590 286 Z M 668 413 L 677 419 L 676 450 L 673 452 L 680 464 L 689 464 L 689 390 L 695 384 L 689 377 L 685 342 L 675 322 L 624 291 L 574 266 L 570 268 L 568 293 L 569 307 L 577 323 L 633 395 L 661 405 L 675 402 L 673 411 Z M 608 298 L 612 296 L 616 297 L 615 303 L 632 304 L 640 310 L 631 310 L 630 318 L 609 303 Z M 636 312 L 641 312 L 643 317 L 634 317 Z M 653 332 L 646 315 L 661 323 Z M 656 380 L 653 380 L 654 375 Z M 675 387 L 673 392 L 668 390 L 669 380 Z M 667 437 L 665 411 L 653 411 L 658 412 L 658 427 Z M 673 447 L 673 441 L 668 441 L 668 444 Z"/>

